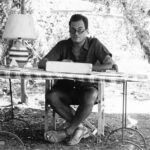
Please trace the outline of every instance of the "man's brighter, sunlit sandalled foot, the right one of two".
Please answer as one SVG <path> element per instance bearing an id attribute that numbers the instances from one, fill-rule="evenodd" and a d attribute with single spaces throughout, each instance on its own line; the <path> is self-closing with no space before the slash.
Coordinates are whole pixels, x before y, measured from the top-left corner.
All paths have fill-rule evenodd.
<path id="1" fill-rule="evenodd" d="M 78 144 L 82 138 L 87 138 L 89 136 L 89 131 L 86 127 L 78 127 L 73 136 L 67 142 L 67 145 L 76 145 Z"/>

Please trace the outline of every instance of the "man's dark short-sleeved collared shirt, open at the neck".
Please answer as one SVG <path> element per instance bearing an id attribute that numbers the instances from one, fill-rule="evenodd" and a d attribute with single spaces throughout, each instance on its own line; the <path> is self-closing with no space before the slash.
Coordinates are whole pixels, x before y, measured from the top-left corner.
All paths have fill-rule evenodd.
<path id="1" fill-rule="evenodd" d="M 49 61 L 62 61 L 63 59 L 70 59 L 76 62 L 75 56 L 72 52 L 73 43 L 71 39 L 60 41 L 54 48 L 45 56 Z M 81 48 L 80 56 L 77 62 L 95 64 L 99 61 L 103 64 L 103 60 L 111 53 L 107 48 L 96 38 L 87 37 L 84 45 Z"/>

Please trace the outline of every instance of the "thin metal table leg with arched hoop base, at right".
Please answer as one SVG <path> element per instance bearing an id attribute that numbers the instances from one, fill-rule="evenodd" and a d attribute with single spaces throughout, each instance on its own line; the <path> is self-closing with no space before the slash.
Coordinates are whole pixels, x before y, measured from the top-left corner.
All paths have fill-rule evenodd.
<path id="1" fill-rule="evenodd" d="M 143 147 L 146 148 L 144 136 L 138 130 L 127 127 L 127 81 L 123 81 L 122 127 L 113 130 L 108 135 L 106 144 L 108 143 L 118 145 L 130 144 L 138 150 L 142 150 Z"/>

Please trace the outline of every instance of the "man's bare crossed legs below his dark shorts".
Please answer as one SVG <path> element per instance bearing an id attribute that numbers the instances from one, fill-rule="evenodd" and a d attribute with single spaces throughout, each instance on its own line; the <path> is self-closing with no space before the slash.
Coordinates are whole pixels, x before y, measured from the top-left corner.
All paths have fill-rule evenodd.
<path id="1" fill-rule="evenodd" d="M 93 105 L 97 99 L 97 90 L 95 88 L 88 88 L 81 93 L 79 107 L 76 112 L 70 107 L 72 104 L 70 97 L 61 91 L 55 90 L 48 94 L 47 98 L 52 108 L 62 118 L 70 122 L 67 133 L 71 135 L 92 112 Z"/>

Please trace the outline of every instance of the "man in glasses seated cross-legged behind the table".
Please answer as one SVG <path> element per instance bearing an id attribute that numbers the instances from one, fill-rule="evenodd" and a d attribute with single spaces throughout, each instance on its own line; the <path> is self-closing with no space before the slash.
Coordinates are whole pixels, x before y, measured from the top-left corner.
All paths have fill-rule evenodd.
<path id="1" fill-rule="evenodd" d="M 75 14 L 69 21 L 70 38 L 60 41 L 39 62 L 39 68 L 45 69 L 46 61 L 73 61 L 93 64 L 94 71 L 112 69 L 114 62 L 111 53 L 96 38 L 89 38 L 88 19 Z M 97 63 L 98 62 L 98 63 Z M 75 145 L 86 137 L 87 128 L 83 121 L 92 112 L 97 103 L 97 83 L 72 80 L 58 80 L 47 94 L 48 103 L 68 123 L 65 130 L 48 131 L 45 139 L 50 142 L 61 142 L 66 139 L 68 145 Z M 73 110 L 70 105 L 78 105 Z"/>

